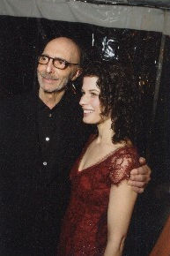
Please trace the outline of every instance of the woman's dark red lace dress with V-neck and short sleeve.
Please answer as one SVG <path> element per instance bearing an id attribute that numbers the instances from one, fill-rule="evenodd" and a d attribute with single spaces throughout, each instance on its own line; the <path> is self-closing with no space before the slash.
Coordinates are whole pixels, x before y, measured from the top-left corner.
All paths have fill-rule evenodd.
<path id="1" fill-rule="evenodd" d="M 83 154 L 70 171 L 70 205 L 63 220 L 58 256 L 103 255 L 111 184 L 128 179 L 130 170 L 139 166 L 135 147 L 122 147 L 78 172 Z"/>

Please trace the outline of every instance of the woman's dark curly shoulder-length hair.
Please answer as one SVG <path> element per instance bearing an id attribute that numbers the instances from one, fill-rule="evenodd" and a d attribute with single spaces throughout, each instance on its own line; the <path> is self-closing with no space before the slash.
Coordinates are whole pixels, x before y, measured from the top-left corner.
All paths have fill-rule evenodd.
<path id="1" fill-rule="evenodd" d="M 128 67 L 118 63 L 95 61 L 86 64 L 82 77 L 97 77 L 102 116 L 111 114 L 112 141 L 130 139 L 137 144 L 142 129 L 141 88 Z M 142 119 L 141 119 L 142 118 Z"/>

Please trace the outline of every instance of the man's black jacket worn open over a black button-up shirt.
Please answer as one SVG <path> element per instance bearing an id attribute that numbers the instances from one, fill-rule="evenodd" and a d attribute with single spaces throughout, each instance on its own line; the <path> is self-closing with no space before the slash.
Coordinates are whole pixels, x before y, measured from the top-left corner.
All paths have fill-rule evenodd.
<path id="1" fill-rule="evenodd" d="M 0 256 L 53 256 L 67 205 L 71 164 L 89 136 L 75 95 L 67 98 L 61 144 L 42 165 L 35 95 L 0 102 Z"/>

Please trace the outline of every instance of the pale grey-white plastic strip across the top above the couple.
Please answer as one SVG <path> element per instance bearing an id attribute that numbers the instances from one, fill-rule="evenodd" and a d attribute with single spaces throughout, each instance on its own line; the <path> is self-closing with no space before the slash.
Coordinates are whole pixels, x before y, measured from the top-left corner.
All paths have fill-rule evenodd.
<path id="1" fill-rule="evenodd" d="M 0 0 L 0 15 L 82 22 L 170 34 L 170 11 L 74 0 Z"/>

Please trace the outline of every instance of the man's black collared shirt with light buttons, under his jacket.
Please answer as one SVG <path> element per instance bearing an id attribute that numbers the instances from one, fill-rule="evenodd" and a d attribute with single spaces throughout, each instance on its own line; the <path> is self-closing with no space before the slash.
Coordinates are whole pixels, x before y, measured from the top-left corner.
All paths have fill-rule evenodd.
<path id="1" fill-rule="evenodd" d="M 46 168 L 51 166 L 53 156 L 61 149 L 61 145 L 55 143 L 55 139 L 61 136 L 63 127 L 63 112 L 68 111 L 67 96 L 63 98 L 53 109 L 39 99 L 38 103 L 38 124 L 39 124 L 39 140 L 41 147 L 42 165 Z M 55 144 L 55 145 L 54 145 Z M 55 152 L 54 152 L 55 150 Z"/>

